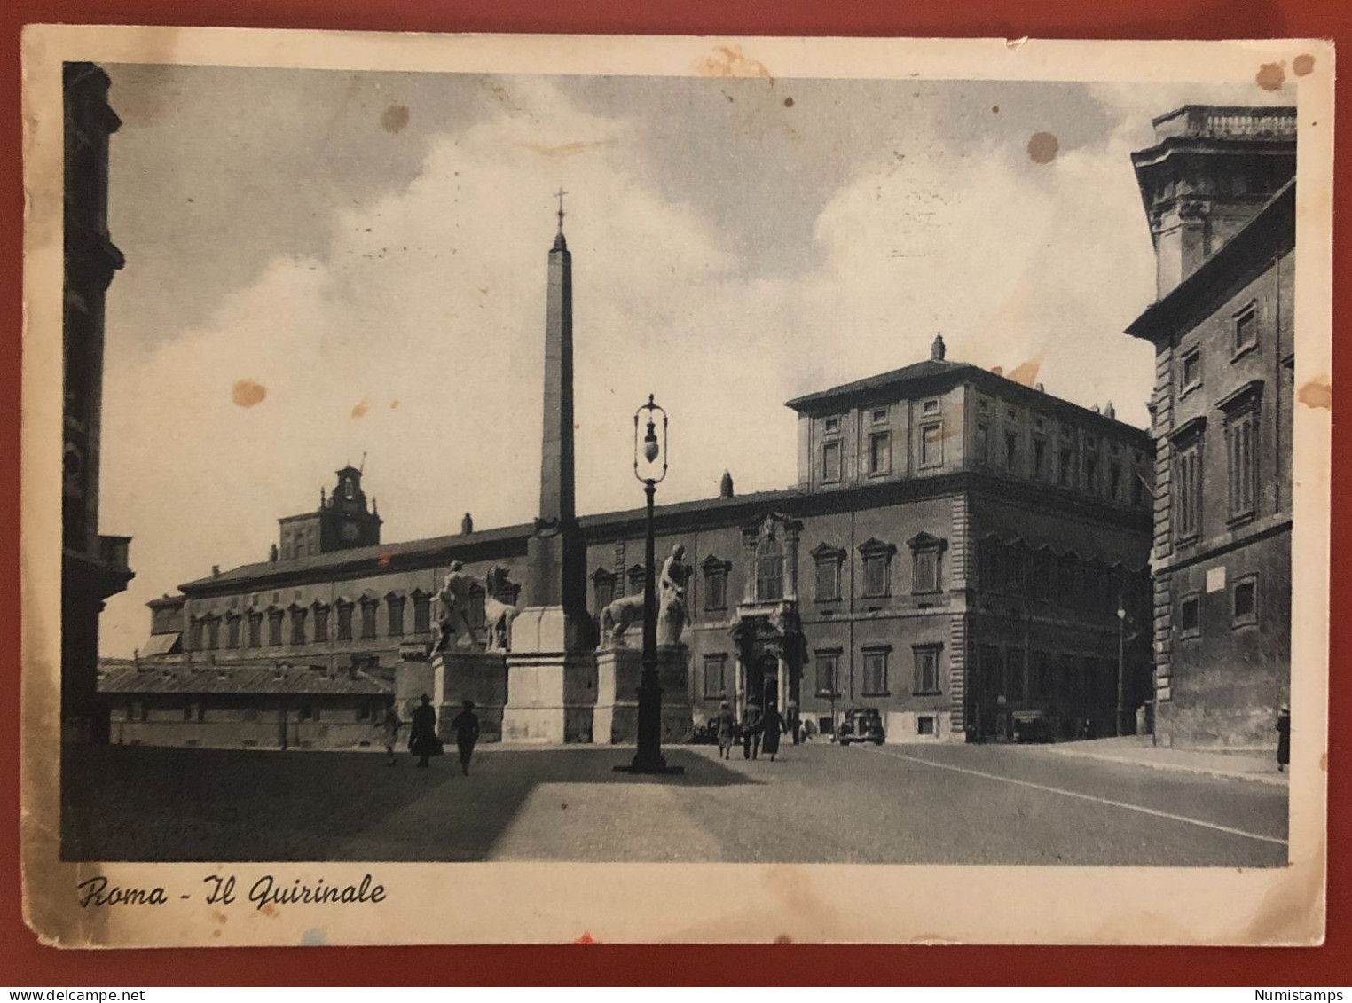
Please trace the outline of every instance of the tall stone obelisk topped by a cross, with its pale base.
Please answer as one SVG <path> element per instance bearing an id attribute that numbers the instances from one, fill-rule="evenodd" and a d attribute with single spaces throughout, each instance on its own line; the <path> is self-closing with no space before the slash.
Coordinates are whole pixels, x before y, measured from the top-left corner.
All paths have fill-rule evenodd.
<path id="1" fill-rule="evenodd" d="M 539 516 L 526 545 L 523 606 L 507 656 L 507 742 L 591 741 L 596 693 L 587 543 L 575 503 L 573 261 L 564 238 L 564 195 L 558 192 L 558 233 L 549 250 Z"/>

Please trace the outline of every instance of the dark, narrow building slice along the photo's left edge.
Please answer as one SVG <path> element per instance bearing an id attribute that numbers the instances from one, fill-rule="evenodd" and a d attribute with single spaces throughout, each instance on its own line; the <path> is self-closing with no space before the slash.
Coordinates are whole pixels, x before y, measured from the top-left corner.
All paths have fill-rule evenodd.
<path id="1" fill-rule="evenodd" d="M 61 480 L 61 712 L 66 739 L 107 741 L 97 693 L 99 614 L 126 589 L 127 537 L 99 533 L 103 310 L 122 253 L 108 238 L 108 76 L 89 62 L 62 68 L 65 99 L 65 285 Z"/>

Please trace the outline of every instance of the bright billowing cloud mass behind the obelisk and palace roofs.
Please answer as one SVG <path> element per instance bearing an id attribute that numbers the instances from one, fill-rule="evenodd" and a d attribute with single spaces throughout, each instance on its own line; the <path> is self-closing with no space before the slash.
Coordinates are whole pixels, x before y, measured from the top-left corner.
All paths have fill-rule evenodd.
<path id="1" fill-rule="evenodd" d="M 811 105 L 810 82 L 794 92 Z M 544 78 L 476 93 L 492 114 L 422 137 L 426 96 L 408 99 L 399 141 L 416 138 L 419 160 L 389 168 L 407 182 L 334 200 L 304 253 L 231 247 L 257 258 L 247 284 L 176 337 L 110 354 L 101 522 L 132 535 L 137 579 L 108 603 L 105 652 L 145 641 L 151 596 L 264 560 L 274 519 L 316 506 L 362 456 L 388 539 L 453 531 L 466 510 L 480 527 L 535 515 L 560 187 L 583 512 L 641 503 L 631 416 L 649 393 L 672 415 L 661 500 L 713 496 L 725 468 L 738 491 L 780 488 L 795 481 L 783 401 L 923 358 L 936 331 L 949 358 L 1036 365 L 1051 392 L 1144 423 L 1151 354 L 1121 331 L 1152 265 L 1125 111 L 1046 164 L 1029 160 L 1030 132 L 960 146 L 910 115 L 826 193 L 803 268 L 764 277 L 745 260 L 757 220 L 668 197 L 642 123 Z M 172 158 L 172 134 L 155 149 Z"/>

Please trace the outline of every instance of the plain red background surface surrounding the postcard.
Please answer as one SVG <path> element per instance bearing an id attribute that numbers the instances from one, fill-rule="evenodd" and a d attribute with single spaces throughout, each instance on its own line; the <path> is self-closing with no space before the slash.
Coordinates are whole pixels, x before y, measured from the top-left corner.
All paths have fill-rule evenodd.
<path id="1" fill-rule="evenodd" d="M 30 22 L 204 24 L 368 31 L 515 31 L 700 35 L 911 35 L 1037 38 L 1333 38 L 1352 49 L 1347 0 L 967 0 L 848 8 L 822 0 L 18 0 L 0 4 L 0 981 L 11 985 L 342 984 L 415 980 L 475 984 L 713 983 L 814 985 L 899 983 L 1318 985 L 1348 984 L 1349 784 L 1343 768 L 1352 716 L 1343 675 L 1349 620 L 1332 622 L 1329 734 L 1328 941 L 1317 949 L 1237 948 L 315 948 L 195 950 L 53 950 L 23 925 L 19 888 L 19 361 L 23 192 L 19 30 Z M 1347 58 L 1347 54 L 1344 54 Z M 1344 72 L 1337 87 L 1337 189 L 1352 174 L 1352 107 Z M 1336 201 L 1338 200 L 1336 197 Z M 1348 215 L 1336 224 L 1333 330 L 1348 320 L 1352 253 Z M 1334 383 L 1348 361 L 1334 338 Z M 1347 429 L 1334 427 L 1333 461 L 1349 458 Z M 1333 499 L 1333 603 L 1352 523 Z M 314 952 L 319 952 L 316 956 Z"/>

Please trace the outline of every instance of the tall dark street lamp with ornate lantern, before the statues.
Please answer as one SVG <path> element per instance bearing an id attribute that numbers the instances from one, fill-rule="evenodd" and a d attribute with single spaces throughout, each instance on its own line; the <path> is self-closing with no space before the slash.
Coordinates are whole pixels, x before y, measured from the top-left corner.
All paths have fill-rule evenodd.
<path id="1" fill-rule="evenodd" d="M 658 422 L 661 429 L 658 430 Z M 642 437 L 639 437 L 642 431 Z M 662 687 L 657 677 L 657 576 L 653 530 L 653 497 L 667 477 L 667 410 L 648 395 L 634 411 L 634 477 L 648 496 L 648 531 L 644 561 L 644 673 L 638 681 L 638 750 L 621 773 L 684 773 L 668 766 L 662 756 Z"/>

